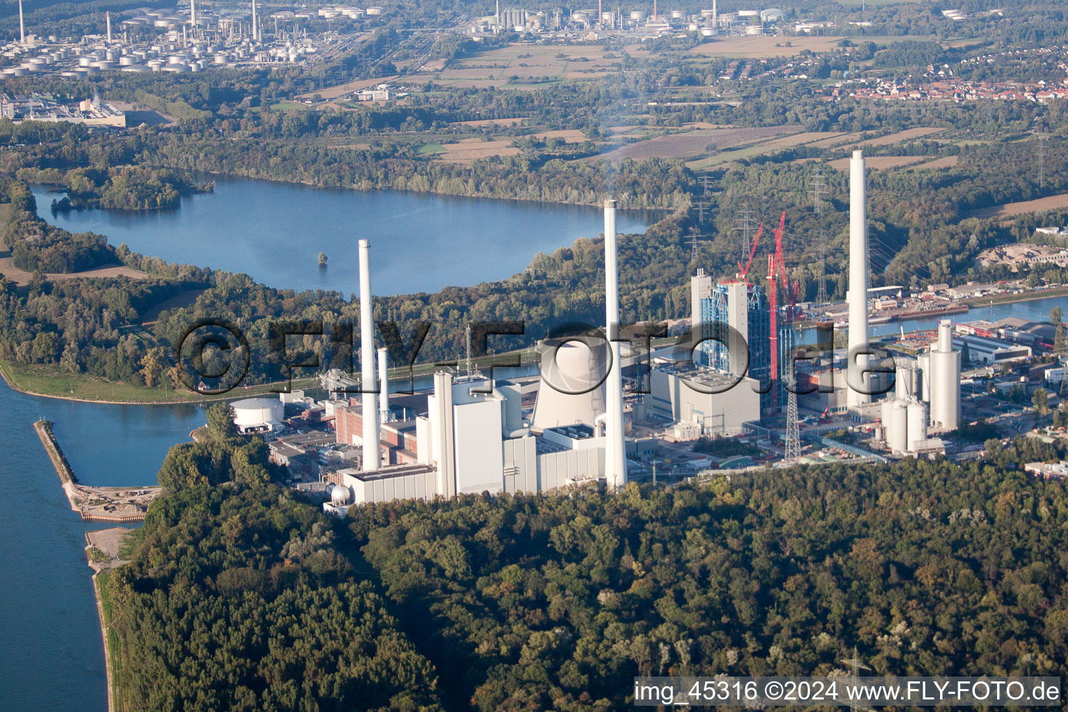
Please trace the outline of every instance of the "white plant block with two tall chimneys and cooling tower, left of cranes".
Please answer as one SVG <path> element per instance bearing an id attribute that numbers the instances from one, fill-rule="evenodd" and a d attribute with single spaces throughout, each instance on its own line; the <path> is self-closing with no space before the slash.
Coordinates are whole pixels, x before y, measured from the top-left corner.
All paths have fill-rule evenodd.
<path id="1" fill-rule="evenodd" d="M 604 204 L 604 253 L 606 323 L 608 333 L 615 334 L 615 201 Z M 379 351 L 382 378 L 379 394 L 372 392 L 376 360 L 371 306 L 370 246 L 361 240 L 361 434 L 346 434 L 354 440 L 349 444 L 362 446 L 363 463 L 337 471 L 331 501 L 323 505 L 326 512 L 343 516 L 352 504 L 397 499 L 543 492 L 600 479 L 613 488 L 626 484 L 618 342 L 609 347 L 613 353 L 607 369 L 593 355 L 596 347 L 592 351 L 579 342 L 544 344 L 557 358 L 543 360 L 532 422 L 523 420 L 521 390 L 508 381 L 494 382 L 477 374 L 462 378 L 435 374 L 426 412 L 414 420 L 414 438 L 404 441 L 404 452 L 414 461 L 383 460 L 383 452 L 389 455 L 381 427 L 389 413 L 388 380 Z M 597 376 L 601 370 L 607 373 Z M 534 421 L 537 428 L 532 427 Z"/>

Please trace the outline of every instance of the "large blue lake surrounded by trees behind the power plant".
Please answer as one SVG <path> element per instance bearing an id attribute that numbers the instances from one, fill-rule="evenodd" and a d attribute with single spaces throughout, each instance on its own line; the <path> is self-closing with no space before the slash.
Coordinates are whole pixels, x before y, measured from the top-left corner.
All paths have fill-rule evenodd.
<path id="1" fill-rule="evenodd" d="M 37 212 L 73 233 L 172 263 L 245 272 L 280 289 L 359 291 L 357 241 L 371 240 L 376 295 L 438 291 L 523 271 L 603 230 L 599 208 L 480 200 L 394 190 L 358 192 L 210 176 L 215 192 L 172 210 L 49 209 L 59 193 L 33 188 Z M 621 210 L 621 233 L 644 232 L 655 211 Z M 327 267 L 318 266 L 318 254 Z"/>

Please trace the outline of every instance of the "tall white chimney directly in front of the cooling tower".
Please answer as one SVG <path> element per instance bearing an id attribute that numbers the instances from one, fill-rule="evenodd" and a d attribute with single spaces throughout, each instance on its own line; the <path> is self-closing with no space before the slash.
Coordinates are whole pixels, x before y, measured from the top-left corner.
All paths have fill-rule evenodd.
<path id="1" fill-rule="evenodd" d="M 627 456 L 623 445 L 623 364 L 619 359 L 619 284 L 615 249 L 615 201 L 604 201 L 604 320 L 612 370 L 604 387 L 604 477 L 609 487 L 627 484 Z"/>

